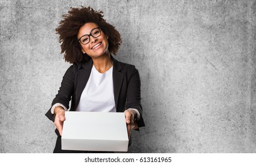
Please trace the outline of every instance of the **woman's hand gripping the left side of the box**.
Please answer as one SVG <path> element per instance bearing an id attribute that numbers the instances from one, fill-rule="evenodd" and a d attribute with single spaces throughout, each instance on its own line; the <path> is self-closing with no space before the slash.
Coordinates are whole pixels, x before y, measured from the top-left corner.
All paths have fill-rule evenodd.
<path id="1" fill-rule="evenodd" d="M 65 120 L 65 110 L 62 107 L 57 106 L 54 108 L 54 114 L 55 114 L 54 124 L 61 136 L 62 128 L 63 128 L 63 121 Z"/>

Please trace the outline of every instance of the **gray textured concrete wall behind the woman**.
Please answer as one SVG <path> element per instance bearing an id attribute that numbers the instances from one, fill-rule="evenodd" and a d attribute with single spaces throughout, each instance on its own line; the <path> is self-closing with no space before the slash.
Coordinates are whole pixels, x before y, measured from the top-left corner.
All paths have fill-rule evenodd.
<path id="1" fill-rule="evenodd" d="M 70 6 L 105 13 L 142 81 L 147 127 L 129 152 L 255 153 L 256 1 L 0 0 L 0 153 L 51 153 L 44 114 L 70 64 L 54 32 Z"/>

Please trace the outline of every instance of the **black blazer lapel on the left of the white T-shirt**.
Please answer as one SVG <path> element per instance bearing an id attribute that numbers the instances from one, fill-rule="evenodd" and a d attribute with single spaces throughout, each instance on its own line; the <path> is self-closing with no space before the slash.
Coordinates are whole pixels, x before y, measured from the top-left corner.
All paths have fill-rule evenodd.
<path id="1" fill-rule="evenodd" d="M 77 88 L 76 88 L 76 104 L 74 107 L 74 111 L 76 110 L 76 107 L 79 104 L 80 97 L 82 95 L 83 89 L 85 88 L 85 85 L 89 80 L 91 71 L 92 71 L 92 60 L 83 64 L 80 70 L 78 71 Z"/>

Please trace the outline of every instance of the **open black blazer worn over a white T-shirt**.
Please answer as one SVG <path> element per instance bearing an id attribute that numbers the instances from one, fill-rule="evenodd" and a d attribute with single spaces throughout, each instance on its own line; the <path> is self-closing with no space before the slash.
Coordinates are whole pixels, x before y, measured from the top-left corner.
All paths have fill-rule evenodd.
<path id="1" fill-rule="evenodd" d="M 116 112 L 124 112 L 128 108 L 137 109 L 141 118 L 137 121 L 138 127 L 144 127 L 141 107 L 141 81 L 138 70 L 134 65 L 125 64 L 115 60 L 113 61 L 113 84 Z M 83 64 L 73 64 L 67 69 L 61 82 L 61 87 L 53 100 L 51 106 L 56 103 L 63 104 L 70 111 L 75 111 L 79 104 L 83 89 L 90 77 L 92 70 L 92 60 Z M 54 121 L 54 114 L 51 114 L 51 108 L 47 111 L 46 116 Z M 59 132 L 56 131 L 58 134 Z"/>

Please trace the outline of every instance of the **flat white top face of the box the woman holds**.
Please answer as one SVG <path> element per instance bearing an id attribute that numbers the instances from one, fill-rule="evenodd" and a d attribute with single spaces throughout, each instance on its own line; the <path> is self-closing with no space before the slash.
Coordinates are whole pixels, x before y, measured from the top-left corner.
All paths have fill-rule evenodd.
<path id="1" fill-rule="evenodd" d="M 124 113 L 66 111 L 61 138 L 128 141 Z"/>

